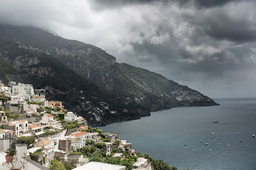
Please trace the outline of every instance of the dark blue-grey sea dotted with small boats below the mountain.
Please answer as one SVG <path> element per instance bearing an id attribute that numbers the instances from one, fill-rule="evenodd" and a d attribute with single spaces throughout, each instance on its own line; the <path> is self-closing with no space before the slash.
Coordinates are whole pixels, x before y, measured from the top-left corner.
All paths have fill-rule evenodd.
<path id="1" fill-rule="evenodd" d="M 178 169 L 255 170 L 256 100 L 217 102 L 220 106 L 163 110 L 100 128 L 132 143 L 135 152 L 148 153 Z"/>

